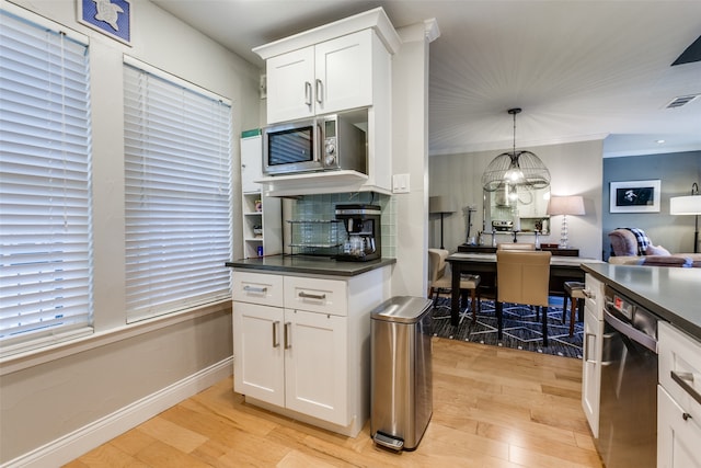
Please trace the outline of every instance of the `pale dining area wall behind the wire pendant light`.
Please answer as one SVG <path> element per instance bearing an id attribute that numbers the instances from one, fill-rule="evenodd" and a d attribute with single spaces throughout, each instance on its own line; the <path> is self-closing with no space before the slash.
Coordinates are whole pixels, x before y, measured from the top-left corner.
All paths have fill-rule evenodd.
<path id="1" fill-rule="evenodd" d="M 581 256 L 601 259 L 601 181 L 602 141 L 526 148 L 535 152 L 550 170 L 552 195 L 582 195 L 585 199 L 585 216 L 568 216 L 570 246 L 579 249 Z M 471 235 L 482 230 L 482 173 L 497 155 L 505 151 L 481 151 L 462 155 L 432 156 L 428 158 L 430 196 L 444 195 L 456 207 L 456 213 L 444 217 L 444 244 L 456 251 L 466 241 L 467 220 L 463 208 L 474 206 Z M 562 217 L 551 218 L 549 236 L 541 236 L 541 242 L 560 241 Z M 439 247 L 440 218 L 430 215 L 430 247 Z M 487 226 L 486 230 L 491 230 Z M 499 236 L 499 241 L 508 241 L 510 236 Z M 533 237 L 525 241 L 532 242 Z"/>

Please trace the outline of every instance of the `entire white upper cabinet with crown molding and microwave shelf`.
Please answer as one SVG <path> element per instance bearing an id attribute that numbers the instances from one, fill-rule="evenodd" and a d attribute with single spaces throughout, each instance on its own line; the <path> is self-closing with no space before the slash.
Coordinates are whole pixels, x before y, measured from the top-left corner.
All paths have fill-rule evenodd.
<path id="1" fill-rule="evenodd" d="M 262 178 L 269 196 L 391 193 L 392 55 L 399 34 L 382 8 L 255 47 L 266 60 L 267 123 L 367 109 L 367 174 L 357 171 Z"/>

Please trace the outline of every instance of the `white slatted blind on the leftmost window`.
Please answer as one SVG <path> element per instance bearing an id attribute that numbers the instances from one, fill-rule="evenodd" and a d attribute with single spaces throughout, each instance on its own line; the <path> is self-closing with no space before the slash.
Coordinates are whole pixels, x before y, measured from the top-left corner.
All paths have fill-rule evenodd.
<path id="1" fill-rule="evenodd" d="M 88 46 L 37 21 L 0 10 L 2 354 L 92 330 Z"/>

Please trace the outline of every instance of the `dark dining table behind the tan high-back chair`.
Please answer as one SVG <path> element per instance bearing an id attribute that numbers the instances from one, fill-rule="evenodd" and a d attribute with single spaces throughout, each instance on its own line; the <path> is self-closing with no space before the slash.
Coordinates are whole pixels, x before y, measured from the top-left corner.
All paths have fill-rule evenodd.
<path id="1" fill-rule="evenodd" d="M 496 253 L 463 253 L 456 252 L 446 258 L 450 264 L 450 323 L 457 327 L 460 323 L 460 275 L 480 275 L 480 285 L 492 287 L 496 290 Z M 562 294 L 564 297 L 565 282 L 584 282 L 582 263 L 601 263 L 600 260 L 582 256 L 559 256 L 550 259 L 550 285 L 551 294 Z"/>

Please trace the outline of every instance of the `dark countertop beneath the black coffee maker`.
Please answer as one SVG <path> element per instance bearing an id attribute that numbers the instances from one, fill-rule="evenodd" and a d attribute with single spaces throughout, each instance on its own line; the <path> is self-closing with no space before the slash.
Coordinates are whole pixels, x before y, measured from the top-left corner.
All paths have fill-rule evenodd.
<path id="1" fill-rule="evenodd" d="M 329 256 L 271 255 L 227 262 L 234 270 L 252 270 L 261 273 L 301 273 L 311 275 L 355 276 L 397 263 L 397 259 L 379 259 L 369 262 L 344 262 Z"/>

